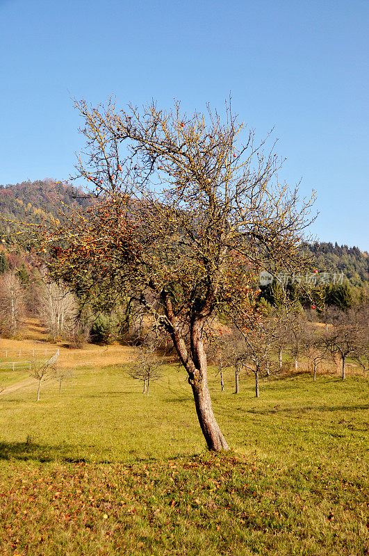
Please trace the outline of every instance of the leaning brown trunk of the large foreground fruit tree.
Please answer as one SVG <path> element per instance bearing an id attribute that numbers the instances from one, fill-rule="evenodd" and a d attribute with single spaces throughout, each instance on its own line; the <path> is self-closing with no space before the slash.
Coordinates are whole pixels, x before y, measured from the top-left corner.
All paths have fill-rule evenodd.
<path id="1" fill-rule="evenodd" d="M 202 322 L 192 322 L 190 330 L 192 362 L 195 365 L 193 372 L 189 372 L 188 382 L 192 386 L 195 407 L 199 424 L 204 434 L 208 449 L 213 452 L 229 450 L 229 445 L 224 439 L 222 431 L 215 420 L 208 389 L 208 368 L 206 353 L 202 340 Z"/>

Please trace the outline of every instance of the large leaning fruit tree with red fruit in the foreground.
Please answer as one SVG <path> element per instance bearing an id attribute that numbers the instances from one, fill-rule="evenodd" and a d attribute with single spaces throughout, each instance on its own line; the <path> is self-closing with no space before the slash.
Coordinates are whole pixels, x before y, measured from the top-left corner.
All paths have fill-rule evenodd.
<path id="1" fill-rule="evenodd" d="M 38 254 L 55 280 L 86 295 L 104 290 L 107 309 L 124 295 L 127 310 L 170 336 L 209 450 L 228 450 L 208 389 L 204 327 L 214 315 L 254 318 L 261 268 L 306 268 L 311 201 L 279 184 L 277 156 L 229 108 L 224 124 L 178 103 L 170 112 L 77 108 L 88 143 L 77 170 L 95 199 L 44 222 Z"/>

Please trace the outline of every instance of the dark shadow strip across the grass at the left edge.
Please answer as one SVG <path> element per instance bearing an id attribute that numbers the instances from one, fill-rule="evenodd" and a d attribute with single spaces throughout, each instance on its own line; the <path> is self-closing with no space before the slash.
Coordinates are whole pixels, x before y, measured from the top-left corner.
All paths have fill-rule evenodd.
<path id="1" fill-rule="evenodd" d="M 63 453 L 65 457 L 63 457 Z M 0 459 L 18 459 L 20 461 L 65 461 L 70 463 L 86 463 L 88 459 L 73 457 L 70 454 L 72 446 L 51 446 L 38 444 L 27 440 L 26 442 L 0 442 Z"/>

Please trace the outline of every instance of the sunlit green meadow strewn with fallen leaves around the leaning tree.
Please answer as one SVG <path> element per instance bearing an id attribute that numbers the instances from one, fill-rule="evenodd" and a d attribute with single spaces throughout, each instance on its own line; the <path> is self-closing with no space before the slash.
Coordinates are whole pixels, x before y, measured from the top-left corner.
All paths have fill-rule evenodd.
<path id="1" fill-rule="evenodd" d="M 0 397 L 1 555 L 364 555 L 368 391 L 296 375 L 233 394 L 211 375 L 232 451 L 205 450 L 183 371 L 146 397 L 85 368 Z M 27 441 L 28 439 L 28 441 Z"/>

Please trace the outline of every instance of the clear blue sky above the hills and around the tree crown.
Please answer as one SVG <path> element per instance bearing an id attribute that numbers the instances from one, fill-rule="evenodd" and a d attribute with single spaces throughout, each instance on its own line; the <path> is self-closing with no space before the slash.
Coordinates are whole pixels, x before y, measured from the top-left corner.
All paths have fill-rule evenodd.
<path id="1" fill-rule="evenodd" d="M 71 95 L 233 108 L 274 126 L 311 232 L 369 250 L 368 0 L 0 0 L 0 183 L 73 172 Z"/>

